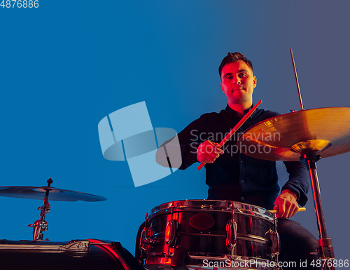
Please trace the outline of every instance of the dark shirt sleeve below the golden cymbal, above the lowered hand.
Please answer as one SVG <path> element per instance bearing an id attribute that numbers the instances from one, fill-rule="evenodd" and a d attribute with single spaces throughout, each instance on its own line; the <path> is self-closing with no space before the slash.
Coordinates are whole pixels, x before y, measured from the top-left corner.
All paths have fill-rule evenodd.
<path id="1" fill-rule="evenodd" d="M 289 189 L 297 195 L 297 203 L 304 206 L 307 203 L 307 191 L 309 191 L 309 172 L 305 163 L 300 161 L 283 161 L 289 173 L 289 180 L 281 191 Z"/>

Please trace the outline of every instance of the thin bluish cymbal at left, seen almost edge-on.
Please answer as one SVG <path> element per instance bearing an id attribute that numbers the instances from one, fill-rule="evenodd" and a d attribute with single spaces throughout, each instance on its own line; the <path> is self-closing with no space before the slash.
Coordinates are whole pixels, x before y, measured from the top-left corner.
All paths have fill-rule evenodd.
<path id="1" fill-rule="evenodd" d="M 43 200 L 46 190 L 49 201 L 105 201 L 106 198 L 93 194 L 55 187 L 0 187 L 0 196 Z"/>

